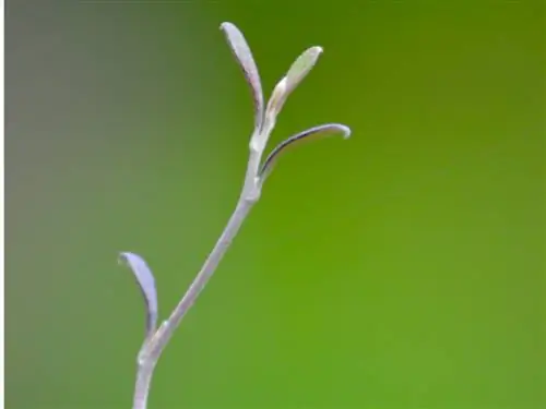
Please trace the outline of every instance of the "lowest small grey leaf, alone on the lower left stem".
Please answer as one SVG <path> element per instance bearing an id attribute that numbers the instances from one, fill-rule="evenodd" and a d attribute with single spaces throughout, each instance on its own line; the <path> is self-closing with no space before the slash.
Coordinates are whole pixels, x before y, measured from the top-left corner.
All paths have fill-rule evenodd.
<path id="1" fill-rule="evenodd" d="M 120 253 L 119 261 L 133 272 L 146 304 L 146 339 L 152 337 L 157 327 L 157 291 L 155 279 L 146 262 L 138 254 Z"/>

